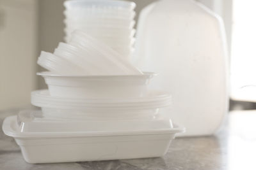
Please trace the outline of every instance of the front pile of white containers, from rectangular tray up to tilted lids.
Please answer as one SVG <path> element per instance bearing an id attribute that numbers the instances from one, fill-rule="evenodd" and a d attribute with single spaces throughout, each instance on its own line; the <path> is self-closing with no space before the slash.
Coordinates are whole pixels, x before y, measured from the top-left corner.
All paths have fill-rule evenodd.
<path id="1" fill-rule="evenodd" d="M 49 70 L 38 73 L 49 89 L 31 93 L 41 110 L 3 123 L 27 162 L 161 157 L 184 131 L 163 115 L 170 94 L 147 88 L 156 74 L 142 73 L 100 38 L 74 31 L 54 53 L 42 52 L 38 64 Z"/>

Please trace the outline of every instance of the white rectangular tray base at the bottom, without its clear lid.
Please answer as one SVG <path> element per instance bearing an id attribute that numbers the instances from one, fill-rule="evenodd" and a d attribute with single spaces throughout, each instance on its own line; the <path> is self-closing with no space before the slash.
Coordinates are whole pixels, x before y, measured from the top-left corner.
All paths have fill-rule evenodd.
<path id="1" fill-rule="evenodd" d="M 73 124 L 76 125 L 76 124 Z M 132 125 L 132 124 L 131 124 Z M 67 127 L 67 126 L 63 126 Z M 145 129 L 141 131 L 62 131 L 22 132 L 17 117 L 3 122 L 3 131 L 12 136 L 29 163 L 78 162 L 89 160 L 162 157 L 175 134 L 184 128 Z"/>

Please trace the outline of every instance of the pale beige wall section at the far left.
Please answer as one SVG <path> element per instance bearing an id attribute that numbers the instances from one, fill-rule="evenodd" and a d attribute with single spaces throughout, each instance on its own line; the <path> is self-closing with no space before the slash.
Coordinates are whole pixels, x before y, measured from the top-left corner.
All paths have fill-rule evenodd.
<path id="1" fill-rule="evenodd" d="M 0 1 L 0 110 L 30 104 L 36 88 L 36 1 Z"/>

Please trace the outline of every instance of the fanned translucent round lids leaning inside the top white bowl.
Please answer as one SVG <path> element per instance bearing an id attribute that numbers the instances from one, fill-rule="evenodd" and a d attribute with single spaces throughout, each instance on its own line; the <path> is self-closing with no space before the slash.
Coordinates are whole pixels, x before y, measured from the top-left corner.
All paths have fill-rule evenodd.
<path id="1" fill-rule="evenodd" d="M 42 52 L 38 64 L 58 74 L 142 74 L 129 60 L 100 39 L 77 30 L 71 36 L 68 43 L 59 43 L 54 53 Z"/>

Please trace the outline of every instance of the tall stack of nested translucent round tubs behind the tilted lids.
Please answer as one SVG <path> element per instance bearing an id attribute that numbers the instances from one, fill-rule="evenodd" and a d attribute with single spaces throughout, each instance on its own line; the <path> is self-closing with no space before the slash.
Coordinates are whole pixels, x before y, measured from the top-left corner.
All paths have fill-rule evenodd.
<path id="1" fill-rule="evenodd" d="M 108 44 L 123 57 L 131 57 L 135 41 L 135 3 L 115 0 L 74 0 L 66 1 L 64 5 L 67 42 L 71 32 L 79 29 Z"/>

